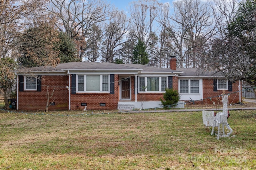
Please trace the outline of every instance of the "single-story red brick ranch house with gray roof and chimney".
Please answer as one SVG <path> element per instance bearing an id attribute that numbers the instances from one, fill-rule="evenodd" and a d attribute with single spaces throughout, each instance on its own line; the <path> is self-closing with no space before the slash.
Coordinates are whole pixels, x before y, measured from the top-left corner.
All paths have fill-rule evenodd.
<path id="1" fill-rule="evenodd" d="M 177 89 L 181 101 L 212 103 L 223 90 L 230 102 L 241 101 L 240 81 L 226 81 L 198 69 L 176 69 L 140 64 L 72 62 L 56 67 L 42 66 L 16 70 L 16 109 L 44 110 L 46 93 L 53 93 L 48 110 L 149 109 L 160 107 L 166 88 Z M 201 74 L 202 73 L 202 74 Z M 236 93 L 237 92 L 237 93 Z M 208 98 L 208 99 L 206 99 Z"/>

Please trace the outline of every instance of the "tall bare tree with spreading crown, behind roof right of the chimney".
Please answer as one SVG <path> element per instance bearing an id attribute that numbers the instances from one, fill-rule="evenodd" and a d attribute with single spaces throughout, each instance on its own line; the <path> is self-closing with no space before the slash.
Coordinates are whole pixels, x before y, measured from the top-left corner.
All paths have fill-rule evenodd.
<path id="1" fill-rule="evenodd" d="M 204 57 L 204 53 L 198 49 L 202 50 L 204 49 L 202 47 L 207 45 L 207 41 L 215 33 L 215 26 L 212 20 L 212 10 L 207 2 L 200 0 L 184 0 L 183 2 L 184 5 L 190 6 L 185 22 L 188 26 L 186 40 L 192 62 L 191 66 L 187 65 L 187 67 L 195 68 L 199 66 L 198 63 Z M 204 64 L 201 62 L 200 66 L 204 66 Z"/>

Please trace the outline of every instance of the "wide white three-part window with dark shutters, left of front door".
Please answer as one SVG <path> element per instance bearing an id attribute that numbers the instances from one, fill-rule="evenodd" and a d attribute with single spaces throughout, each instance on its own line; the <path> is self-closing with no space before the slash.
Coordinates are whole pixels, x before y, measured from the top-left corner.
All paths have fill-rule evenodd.
<path id="1" fill-rule="evenodd" d="M 77 92 L 109 92 L 109 75 L 76 75 Z"/>

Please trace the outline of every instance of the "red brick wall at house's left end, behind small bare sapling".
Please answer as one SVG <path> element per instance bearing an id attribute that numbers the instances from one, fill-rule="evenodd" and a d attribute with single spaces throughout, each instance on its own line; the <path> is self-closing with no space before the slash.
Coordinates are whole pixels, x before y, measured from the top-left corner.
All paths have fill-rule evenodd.
<path id="1" fill-rule="evenodd" d="M 42 110 L 46 108 L 46 89 L 51 95 L 53 88 L 55 87 L 54 94 L 50 99 L 50 102 L 54 100 L 55 105 L 48 107 L 48 111 L 51 110 L 67 110 L 68 109 L 68 77 L 67 76 L 42 76 L 42 91 L 19 91 L 18 93 L 18 109 L 20 110 Z"/>

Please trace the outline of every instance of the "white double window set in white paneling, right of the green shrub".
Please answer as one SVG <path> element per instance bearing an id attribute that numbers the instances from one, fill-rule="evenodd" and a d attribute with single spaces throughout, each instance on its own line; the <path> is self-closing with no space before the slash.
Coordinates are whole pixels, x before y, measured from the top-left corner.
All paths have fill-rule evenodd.
<path id="1" fill-rule="evenodd" d="M 182 79 L 180 80 L 180 93 L 199 94 L 199 80 Z"/>

